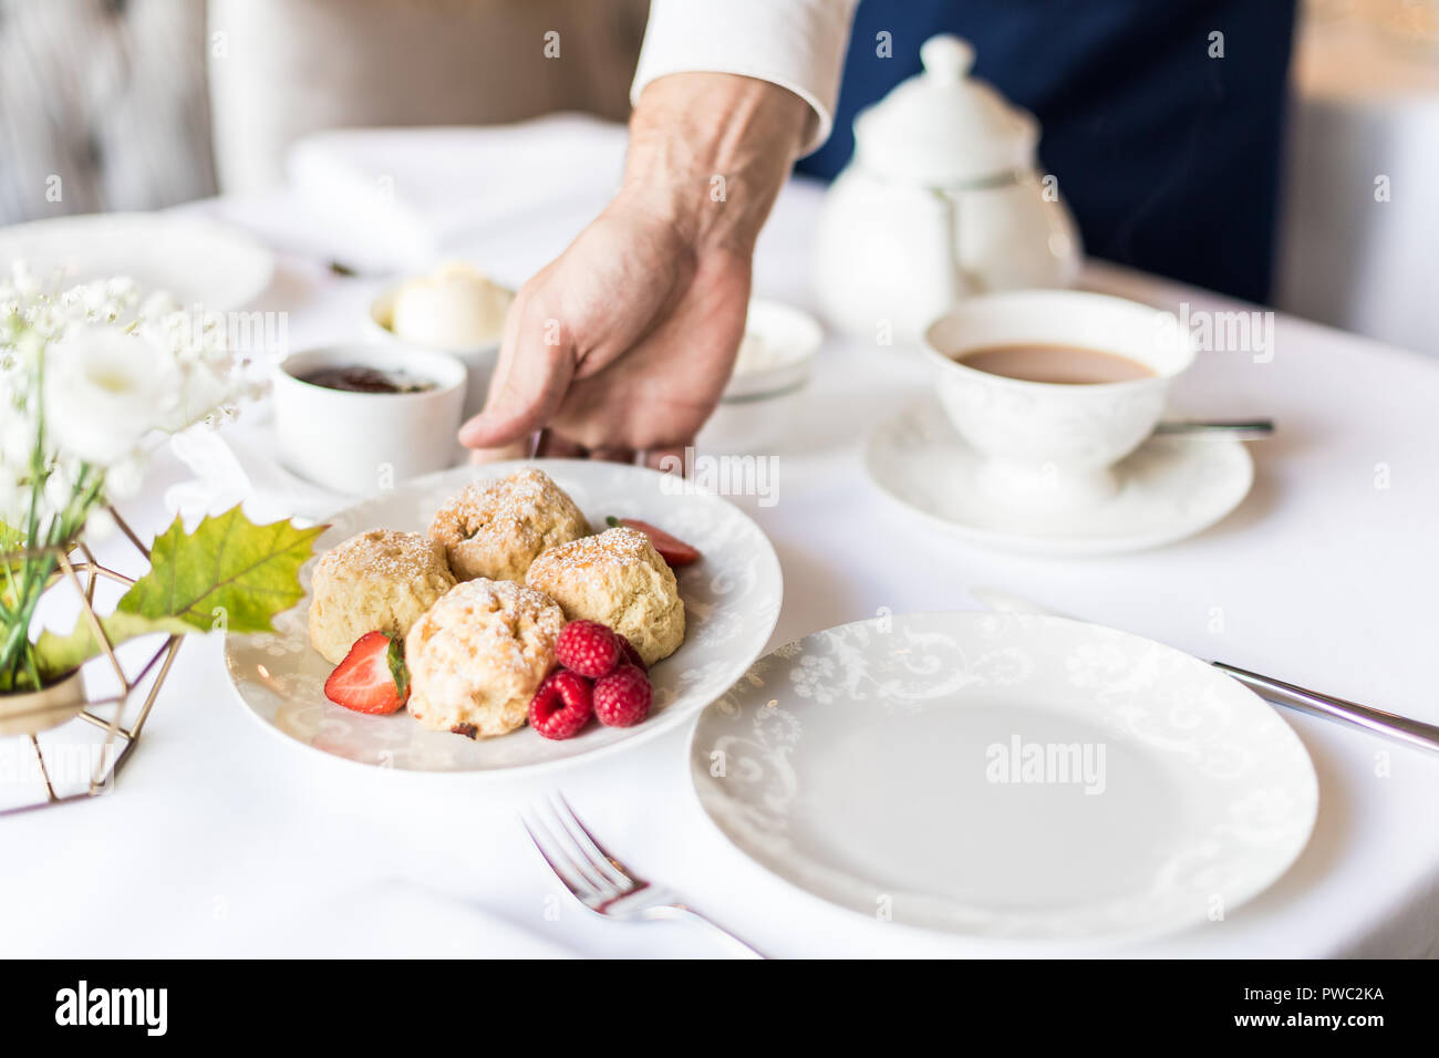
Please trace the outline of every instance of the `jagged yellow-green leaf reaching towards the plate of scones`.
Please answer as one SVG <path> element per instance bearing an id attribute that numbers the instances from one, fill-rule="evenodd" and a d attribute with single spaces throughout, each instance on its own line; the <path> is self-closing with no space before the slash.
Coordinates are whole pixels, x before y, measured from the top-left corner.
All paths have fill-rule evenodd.
<path id="1" fill-rule="evenodd" d="M 304 596 L 299 567 L 328 528 L 296 528 L 288 521 L 256 525 L 239 507 L 206 518 L 186 533 L 176 518 L 150 548 L 150 571 L 101 619 L 111 643 L 164 632 L 269 632 L 276 613 Z M 40 633 L 36 656 L 47 677 L 69 672 L 101 652 L 89 622 L 69 635 Z"/>

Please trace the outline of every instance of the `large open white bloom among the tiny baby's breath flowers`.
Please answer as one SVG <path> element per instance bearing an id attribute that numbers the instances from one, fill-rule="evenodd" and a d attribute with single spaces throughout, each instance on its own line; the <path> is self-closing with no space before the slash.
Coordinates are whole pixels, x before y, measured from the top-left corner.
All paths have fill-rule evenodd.
<path id="1" fill-rule="evenodd" d="M 78 327 L 45 357 L 46 429 L 66 453 L 108 466 L 174 419 L 174 361 L 112 327 Z"/>

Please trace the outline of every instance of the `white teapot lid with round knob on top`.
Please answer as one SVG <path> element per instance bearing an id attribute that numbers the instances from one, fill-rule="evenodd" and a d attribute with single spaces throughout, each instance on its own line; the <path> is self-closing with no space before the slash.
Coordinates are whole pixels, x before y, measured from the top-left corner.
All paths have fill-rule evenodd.
<path id="1" fill-rule="evenodd" d="M 974 49 L 957 36 L 920 48 L 924 73 L 896 85 L 855 118 L 855 158 L 899 183 L 948 186 L 1032 166 L 1035 117 L 971 78 Z"/>

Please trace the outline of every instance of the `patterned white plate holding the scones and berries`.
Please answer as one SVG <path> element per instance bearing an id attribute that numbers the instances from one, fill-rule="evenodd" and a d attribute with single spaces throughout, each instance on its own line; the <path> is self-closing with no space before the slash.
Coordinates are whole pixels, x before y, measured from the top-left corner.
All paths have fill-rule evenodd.
<path id="1" fill-rule="evenodd" d="M 732 504 L 673 475 L 573 459 L 538 464 L 593 525 L 603 527 L 610 514 L 643 518 L 704 554 L 699 563 L 678 570 L 685 642 L 650 668 L 655 711 L 645 723 L 630 728 L 591 724 L 567 741 L 547 741 L 528 727 L 471 741 L 429 731 L 403 710 L 389 717 L 351 713 L 325 698 L 324 682 L 331 666 L 309 646 L 308 596 L 276 618 L 275 633 L 226 636 L 230 679 L 249 711 L 296 743 L 363 764 L 494 773 L 534 770 L 632 746 L 684 723 L 724 694 L 764 649 L 780 616 L 780 561 L 760 527 Z M 478 478 L 504 476 L 522 465 L 463 466 L 406 482 L 335 515 L 319 537 L 318 550 L 374 527 L 423 531 L 440 502 L 459 488 Z M 308 592 L 308 566 L 302 576 Z"/>

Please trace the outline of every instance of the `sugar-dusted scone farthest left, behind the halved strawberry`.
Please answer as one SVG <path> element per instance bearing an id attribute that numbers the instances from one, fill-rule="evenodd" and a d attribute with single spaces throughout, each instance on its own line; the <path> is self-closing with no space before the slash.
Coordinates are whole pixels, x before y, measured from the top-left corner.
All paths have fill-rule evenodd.
<path id="1" fill-rule="evenodd" d="M 338 665 L 366 632 L 403 636 L 452 587 L 445 548 L 419 533 L 350 537 L 315 564 L 309 642 Z"/>

